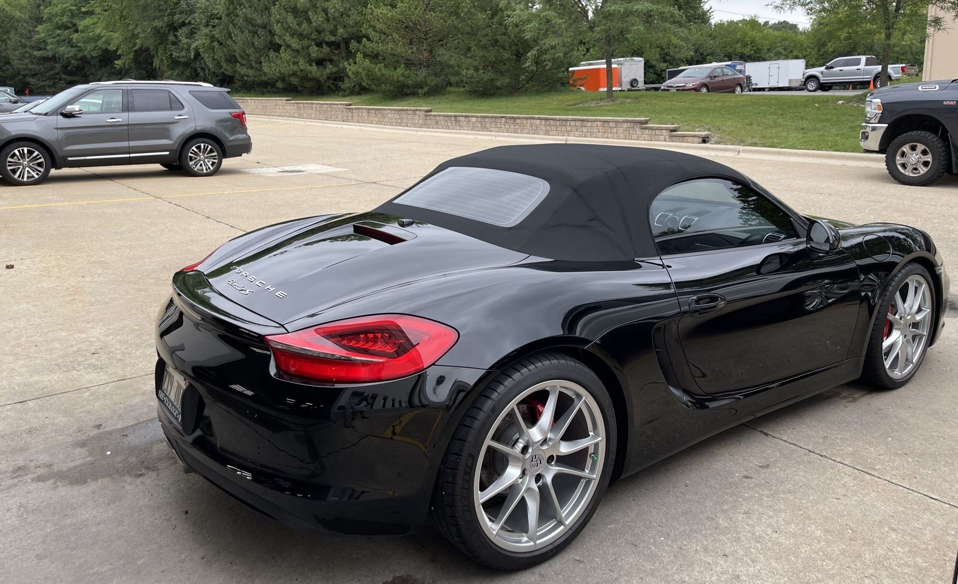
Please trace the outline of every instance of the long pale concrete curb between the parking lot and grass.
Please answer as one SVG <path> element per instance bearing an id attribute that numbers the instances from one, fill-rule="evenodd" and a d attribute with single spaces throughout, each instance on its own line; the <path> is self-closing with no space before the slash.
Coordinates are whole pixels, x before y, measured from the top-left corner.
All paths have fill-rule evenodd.
<path id="1" fill-rule="evenodd" d="M 608 138 L 573 138 L 562 136 L 544 136 L 539 134 L 508 134 L 499 132 L 472 132 L 455 130 L 433 130 L 410 126 L 357 124 L 354 122 L 324 122 L 303 118 L 285 118 L 282 116 L 250 115 L 250 118 L 279 120 L 298 124 L 314 124 L 327 127 L 344 127 L 400 134 L 423 134 L 427 136 L 445 136 L 449 138 L 473 138 L 477 140 L 496 140 L 504 142 L 535 142 L 543 144 L 607 144 L 611 146 L 642 146 L 688 152 L 699 156 L 741 156 L 759 160 L 781 162 L 803 162 L 833 166 L 865 166 L 884 168 L 884 159 L 878 154 L 857 152 L 832 152 L 829 150 L 794 150 L 788 148 L 769 148 L 762 146 L 729 146 L 721 144 L 681 144 L 652 140 L 615 140 Z"/>

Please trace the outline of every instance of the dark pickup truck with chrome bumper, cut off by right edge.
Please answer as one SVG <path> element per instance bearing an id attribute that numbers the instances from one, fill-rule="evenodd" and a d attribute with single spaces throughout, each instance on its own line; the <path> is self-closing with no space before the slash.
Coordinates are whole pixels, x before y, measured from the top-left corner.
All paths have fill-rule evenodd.
<path id="1" fill-rule="evenodd" d="M 958 79 L 882 87 L 868 95 L 858 140 L 885 155 L 902 185 L 926 187 L 958 174 Z"/>

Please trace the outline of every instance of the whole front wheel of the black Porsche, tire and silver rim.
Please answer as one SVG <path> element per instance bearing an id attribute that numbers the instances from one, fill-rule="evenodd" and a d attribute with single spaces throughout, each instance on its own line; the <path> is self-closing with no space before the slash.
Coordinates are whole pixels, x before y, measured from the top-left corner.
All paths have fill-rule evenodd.
<path id="1" fill-rule="evenodd" d="M 906 264 L 888 283 L 878 304 L 862 381 L 892 390 L 915 376 L 934 333 L 935 305 L 928 271 L 917 263 Z"/>

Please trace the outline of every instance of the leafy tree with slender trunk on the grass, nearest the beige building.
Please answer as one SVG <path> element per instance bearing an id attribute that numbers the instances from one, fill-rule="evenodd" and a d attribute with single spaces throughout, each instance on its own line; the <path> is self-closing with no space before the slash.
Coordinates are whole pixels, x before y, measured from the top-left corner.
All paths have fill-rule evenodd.
<path id="1" fill-rule="evenodd" d="M 958 0 L 779 0 L 775 8 L 778 11 L 803 10 L 816 20 L 836 18 L 851 25 L 857 19 L 861 25 L 877 25 L 881 83 L 886 85 L 896 31 L 909 14 L 926 13 L 929 5 L 941 11 L 958 14 Z M 930 30 L 940 31 L 947 28 L 947 23 L 941 16 L 928 18 L 927 25 Z"/>

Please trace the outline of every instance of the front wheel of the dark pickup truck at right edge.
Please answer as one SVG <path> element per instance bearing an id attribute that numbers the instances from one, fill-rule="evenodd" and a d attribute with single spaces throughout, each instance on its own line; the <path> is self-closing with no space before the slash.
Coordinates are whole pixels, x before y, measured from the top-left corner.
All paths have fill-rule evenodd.
<path id="1" fill-rule="evenodd" d="M 945 174 L 950 162 L 945 141 L 917 130 L 892 141 L 885 153 L 885 168 L 902 185 L 927 187 Z"/>

